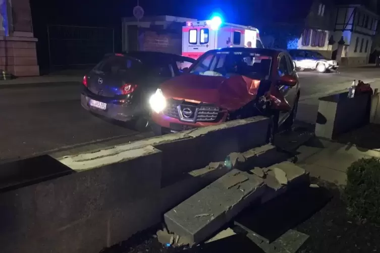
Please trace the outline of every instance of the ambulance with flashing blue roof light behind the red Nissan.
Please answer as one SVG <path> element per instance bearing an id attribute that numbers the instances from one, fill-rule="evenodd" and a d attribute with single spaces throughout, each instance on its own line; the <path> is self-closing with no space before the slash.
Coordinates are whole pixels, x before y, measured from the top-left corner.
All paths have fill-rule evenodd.
<path id="1" fill-rule="evenodd" d="M 182 55 L 197 59 L 204 52 L 223 47 L 263 48 L 258 29 L 223 23 L 220 17 L 186 22 L 182 28 Z"/>

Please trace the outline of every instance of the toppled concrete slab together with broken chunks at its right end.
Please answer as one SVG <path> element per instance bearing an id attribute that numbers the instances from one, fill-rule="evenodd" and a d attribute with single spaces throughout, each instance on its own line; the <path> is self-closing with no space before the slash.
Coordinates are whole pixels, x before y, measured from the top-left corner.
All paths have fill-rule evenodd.
<path id="1" fill-rule="evenodd" d="M 234 167 L 244 168 L 247 159 L 231 154 L 230 161 L 231 164 L 234 162 Z M 209 166 L 221 165 L 212 163 Z M 266 168 L 254 167 L 248 171 L 232 169 L 167 212 L 165 222 L 170 232 L 194 245 L 210 238 L 256 200 L 266 202 L 297 185 L 309 186 L 309 175 L 291 162 Z"/>

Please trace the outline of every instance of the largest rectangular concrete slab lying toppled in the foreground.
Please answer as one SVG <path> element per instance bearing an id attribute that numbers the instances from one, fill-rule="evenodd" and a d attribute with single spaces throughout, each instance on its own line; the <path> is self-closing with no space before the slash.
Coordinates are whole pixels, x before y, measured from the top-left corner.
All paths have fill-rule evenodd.
<path id="1" fill-rule="evenodd" d="M 239 173 L 248 180 L 226 187 L 226 178 Z M 192 243 L 201 242 L 260 198 L 264 189 L 261 178 L 233 169 L 167 212 L 166 225 L 170 232 L 187 237 Z"/>

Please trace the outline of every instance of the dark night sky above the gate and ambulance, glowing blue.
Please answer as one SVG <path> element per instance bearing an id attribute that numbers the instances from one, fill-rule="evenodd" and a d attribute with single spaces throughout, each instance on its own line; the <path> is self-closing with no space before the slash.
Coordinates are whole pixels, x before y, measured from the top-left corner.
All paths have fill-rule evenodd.
<path id="1" fill-rule="evenodd" d="M 172 15 L 207 19 L 213 11 L 222 11 L 228 22 L 249 24 L 253 16 L 258 18 L 258 14 L 253 14 L 267 2 L 247 0 L 243 5 L 236 4 L 236 0 L 140 0 L 140 6 L 144 8 L 145 16 Z M 114 26 L 121 22 L 121 17 L 132 16 L 137 0 L 30 0 L 30 3 L 33 22 L 39 25 Z"/>

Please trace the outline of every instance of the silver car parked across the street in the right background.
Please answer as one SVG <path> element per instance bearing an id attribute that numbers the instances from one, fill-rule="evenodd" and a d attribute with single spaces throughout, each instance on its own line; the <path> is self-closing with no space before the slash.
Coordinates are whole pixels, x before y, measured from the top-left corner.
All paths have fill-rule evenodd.
<path id="1" fill-rule="evenodd" d="M 336 60 L 324 57 L 321 53 L 313 50 L 292 49 L 289 50 L 293 64 L 297 70 L 316 70 L 320 73 L 328 70 L 337 70 L 339 64 Z"/>

